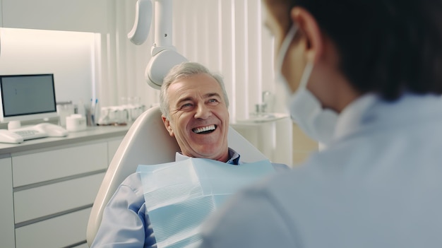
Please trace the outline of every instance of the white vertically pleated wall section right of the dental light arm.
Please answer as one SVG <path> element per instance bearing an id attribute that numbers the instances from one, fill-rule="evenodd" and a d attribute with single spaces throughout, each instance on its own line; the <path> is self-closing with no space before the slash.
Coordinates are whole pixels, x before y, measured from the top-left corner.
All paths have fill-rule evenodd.
<path id="1" fill-rule="evenodd" d="M 192 61 L 225 77 L 231 117 L 246 119 L 264 90 L 275 93 L 273 40 L 261 1 L 174 1 L 174 44 Z"/>

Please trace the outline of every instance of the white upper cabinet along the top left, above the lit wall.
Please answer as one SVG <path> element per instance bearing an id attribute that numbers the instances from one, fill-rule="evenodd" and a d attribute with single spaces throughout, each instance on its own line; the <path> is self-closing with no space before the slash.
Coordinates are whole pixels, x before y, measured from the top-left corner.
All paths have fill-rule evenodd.
<path id="1" fill-rule="evenodd" d="M 0 11 L 4 28 L 107 33 L 107 0 L 0 0 Z"/>

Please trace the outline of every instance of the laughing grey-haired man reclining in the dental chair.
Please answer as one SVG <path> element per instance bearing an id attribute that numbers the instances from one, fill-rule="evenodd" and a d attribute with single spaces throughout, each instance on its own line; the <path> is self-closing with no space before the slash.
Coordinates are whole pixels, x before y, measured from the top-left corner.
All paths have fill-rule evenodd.
<path id="1" fill-rule="evenodd" d="M 222 78 L 201 64 L 185 62 L 169 71 L 161 88 L 160 109 L 167 131 L 181 149 L 177 161 L 208 158 L 241 164 L 239 154 L 227 145 L 228 106 Z M 92 247 L 156 247 L 138 173 L 127 177 L 107 204 Z"/>

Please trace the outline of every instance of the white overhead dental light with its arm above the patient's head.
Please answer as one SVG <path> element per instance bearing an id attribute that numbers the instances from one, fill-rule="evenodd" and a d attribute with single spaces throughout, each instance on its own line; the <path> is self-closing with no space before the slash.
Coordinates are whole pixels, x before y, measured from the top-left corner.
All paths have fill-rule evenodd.
<path id="1" fill-rule="evenodd" d="M 153 0 L 136 2 L 135 23 L 127 35 L 135 45 L 147 40 L 153 16 Z M 155 1 L 155 42 L 150 49 L 152 58 L 145 69 L 145 79 L 153 88 L 160 89 L 162 80 L 173 66 L 188 61 L 172 45 L 172 0 Z"/>

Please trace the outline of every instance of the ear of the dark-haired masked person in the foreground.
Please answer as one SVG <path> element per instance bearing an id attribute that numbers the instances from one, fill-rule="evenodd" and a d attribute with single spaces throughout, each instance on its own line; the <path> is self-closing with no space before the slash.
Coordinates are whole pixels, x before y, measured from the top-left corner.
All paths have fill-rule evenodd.
<path id="1" fill-rule="evenodd" d="M 294 7 L 290 13 L 292 21 L 297 23 L 299 33 L 306 39 L 306 60 L 316 63 L 323 55 L 324 40 L 316 19 L 305 8 Z"/>

